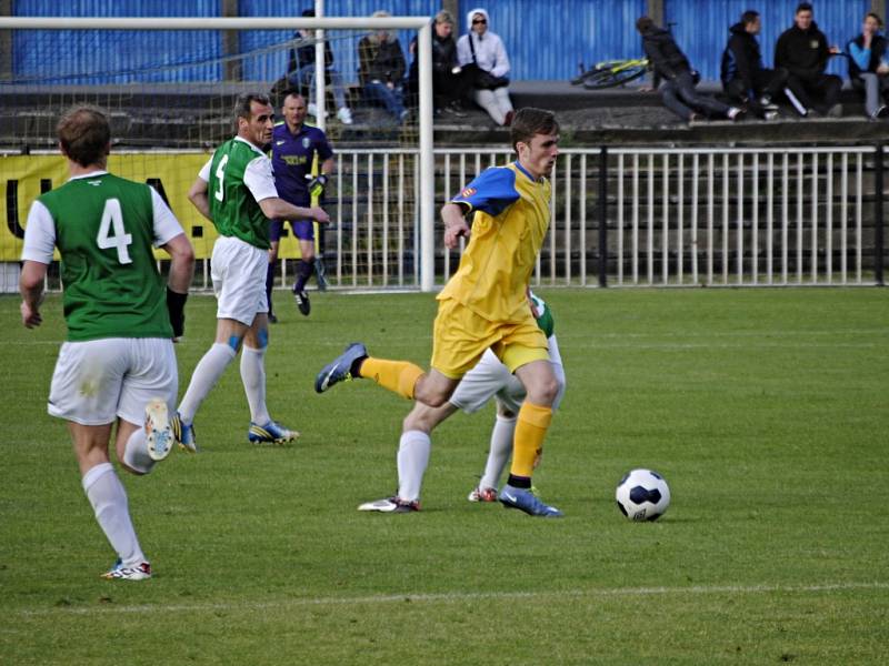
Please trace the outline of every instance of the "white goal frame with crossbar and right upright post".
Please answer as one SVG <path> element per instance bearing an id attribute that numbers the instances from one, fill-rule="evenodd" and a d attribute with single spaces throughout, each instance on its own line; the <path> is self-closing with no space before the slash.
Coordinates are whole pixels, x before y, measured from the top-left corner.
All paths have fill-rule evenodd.
<path id="1" fill-rule="evenodd" d="M 0 30 L 417 30 L 419 57 L 420 290 L 434 286 L 432 38 L 429 17 L 380 18 L 69 18 L 0 17 Z M 319 59 L 323 62 L 323 58 Z M 323 77 L 319 77 L 320 84 Z M 320 98 L 320 99 L 323 99 Z"/>

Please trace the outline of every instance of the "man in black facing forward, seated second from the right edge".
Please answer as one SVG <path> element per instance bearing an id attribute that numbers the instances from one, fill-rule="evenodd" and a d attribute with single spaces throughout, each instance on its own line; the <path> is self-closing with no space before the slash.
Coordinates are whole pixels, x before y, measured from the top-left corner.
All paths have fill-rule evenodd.
<path id="1" fill-rule="evenodd" d="M 825 73 L 833 53 L 839 53 L 839 49 L 828 47 L 825 33 L 812 20 L 812 6 L 801 2 L 793 26 L 781 33 L 775 46 L 775 67 L 790 72 L 787 85 L 791 92 L 787 98 L 800 115 L 832 114 L 840 110 L 837 101 L 842 79 Z"/>

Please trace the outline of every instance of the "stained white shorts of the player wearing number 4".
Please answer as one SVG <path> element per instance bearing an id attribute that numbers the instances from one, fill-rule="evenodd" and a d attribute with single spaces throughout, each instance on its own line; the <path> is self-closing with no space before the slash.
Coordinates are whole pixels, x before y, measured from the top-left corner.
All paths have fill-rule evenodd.
<path id="1" fill-rule="evenodd" d="M 159 397 L 176 411 L 176 353 L 162 337 L 107 337 L 66 342 L 59 352 L 47 411 L 81 425 L 118 416 L 141 424 L 146 404 Z"/>

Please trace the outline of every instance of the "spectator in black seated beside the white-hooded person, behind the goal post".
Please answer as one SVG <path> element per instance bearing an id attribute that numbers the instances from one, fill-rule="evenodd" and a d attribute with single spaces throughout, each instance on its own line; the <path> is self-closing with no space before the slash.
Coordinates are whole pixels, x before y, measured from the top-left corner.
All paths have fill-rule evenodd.
<path id="1" fill-rule="evenodd" d="M 413 61 L 408 73 L 408 99 L 416 105 L 420 91 L 420 57 L 417 49 L 417 38 L 410 42 L 410 52 Z M 465 77 L 462 69 L 457 64 L 457 42 L 453 40 L 453 16 L 442 9 L 432 19 L 432 100 L 436 114 L 441 112 L 463 117 L 460 109 L 460 98 L 465 93 Z"/>

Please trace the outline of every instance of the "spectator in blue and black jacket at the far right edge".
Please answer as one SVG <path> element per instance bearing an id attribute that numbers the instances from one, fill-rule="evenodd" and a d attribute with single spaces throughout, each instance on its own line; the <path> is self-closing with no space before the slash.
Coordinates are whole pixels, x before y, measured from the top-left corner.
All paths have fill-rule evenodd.
<path id="1" fill-rule="evenodd" d="M 852 88 L 865 91 L 865 110 L 872 120 L 889 115 L 889 107 L 886 105 L 889 97 L 889 62 L 881 28 L 882 19 L 870 12 L 865 17 L 861 34 L 846 44 L 850 56 L 849 78 Z"/>

